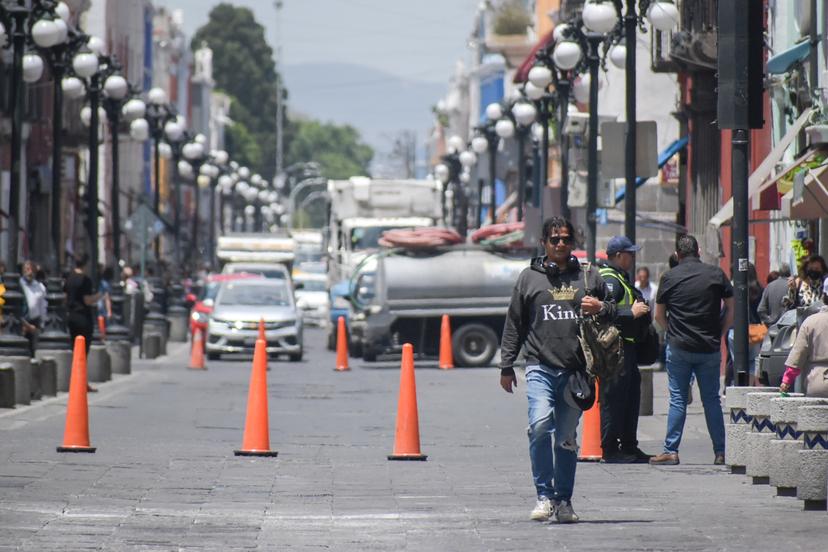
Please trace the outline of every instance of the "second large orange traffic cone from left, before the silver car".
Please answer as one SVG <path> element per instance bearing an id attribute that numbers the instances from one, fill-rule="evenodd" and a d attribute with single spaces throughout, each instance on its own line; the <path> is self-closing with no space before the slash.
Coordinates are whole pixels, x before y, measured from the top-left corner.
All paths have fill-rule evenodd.
<path id="1" fill-rule="evenodd" d="M 267 410 L 267 344 L 256 340 L 253 353 L 253 371 L 250 373 L 250 390 L 247 394 L 247 418 L 244 422 L 244 439 L 236 456 L 276 456 L 270 450 L 270 429 Z"/>

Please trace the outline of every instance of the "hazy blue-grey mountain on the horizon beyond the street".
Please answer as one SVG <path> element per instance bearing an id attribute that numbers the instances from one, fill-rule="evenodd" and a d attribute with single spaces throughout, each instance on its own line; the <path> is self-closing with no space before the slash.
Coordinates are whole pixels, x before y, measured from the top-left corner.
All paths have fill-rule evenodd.
<path id="1" fill-rule="evenodd" d="M 422 143 L 433 121 L 431 106 L 447 90 L 447 84 L 406 80 L 361 65 L 286 65 L 282 73 L 292 113 L 348 123 L 378 153 L 387 152 L 402 130 L 415 131 Z"/>

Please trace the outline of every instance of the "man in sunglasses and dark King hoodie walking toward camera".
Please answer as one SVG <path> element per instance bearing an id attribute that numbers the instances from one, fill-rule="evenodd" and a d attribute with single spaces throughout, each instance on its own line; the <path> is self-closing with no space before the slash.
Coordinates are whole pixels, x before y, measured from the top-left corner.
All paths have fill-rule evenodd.
<path id="1" fill-rule="evenodd" d="M 567 382 L 586 364 L 578 320 L 592 314 L 614 318 L 615 304 L 598 270 L 582 270 L 572 256 L 572 223 L 547 219 L 542 236 L 546 255 L 532 259 L 512 293 L 501 342 L 500 385 L 508 393 L 517 387 L 513 364 L 525 346 L 529 458 L 538 496 L 530 517 L 547 521 L 555 515 L 559 523 L 574 523 L 575 433 L 581 410 L 567 400 Z"/>

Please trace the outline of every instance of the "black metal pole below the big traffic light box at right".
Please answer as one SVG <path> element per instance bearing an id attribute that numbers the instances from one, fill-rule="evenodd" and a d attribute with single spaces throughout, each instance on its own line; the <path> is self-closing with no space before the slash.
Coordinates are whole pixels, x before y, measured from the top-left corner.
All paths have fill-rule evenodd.
<path id="1" fill-rule="evenodd" d="M 731 249 L 733 294 L 733 358 L 736 385 L 748 385 L 748 131 L 734 129 L 731 135 L 733 189 L 733 243 Z"/>

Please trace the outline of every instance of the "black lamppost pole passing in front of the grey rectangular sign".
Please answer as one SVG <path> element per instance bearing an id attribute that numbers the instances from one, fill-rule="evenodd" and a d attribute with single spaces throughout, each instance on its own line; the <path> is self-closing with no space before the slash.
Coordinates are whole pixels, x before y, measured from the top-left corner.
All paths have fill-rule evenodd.
<path id="1" fill-rule="evenodd" d="M 624 234 L 635 243 L 636 216 L 636 113 L 635 113 L 635 36 L 638 15 L 635 12 L 635 0 L 627 0 L 627 13 L 624 17 L 624 36 L 627 43 L 626 85 L 627 85 L 627 126 L 624 149 Z M 633 261 L 635 262 L 635 261 Z M 630 269 L 635 273 L 635 266 Z"/>

